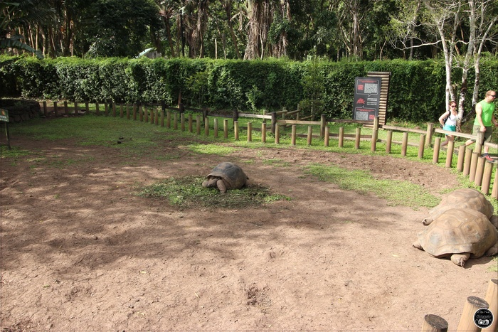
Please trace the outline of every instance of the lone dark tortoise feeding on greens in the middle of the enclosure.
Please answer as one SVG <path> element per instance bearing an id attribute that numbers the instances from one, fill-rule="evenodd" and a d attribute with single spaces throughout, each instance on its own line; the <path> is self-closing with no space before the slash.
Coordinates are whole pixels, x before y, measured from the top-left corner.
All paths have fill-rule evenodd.
<path id="1" fill-rule="evenodd" d="M 218 164 L 206 178 L 202 186 L 218 188 L 220 193 L 226 193 L 229 189 L 242 188 L 248 180 L 242 168 L 229 162 Z"/>

